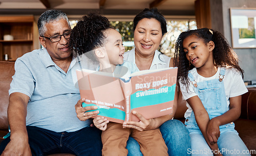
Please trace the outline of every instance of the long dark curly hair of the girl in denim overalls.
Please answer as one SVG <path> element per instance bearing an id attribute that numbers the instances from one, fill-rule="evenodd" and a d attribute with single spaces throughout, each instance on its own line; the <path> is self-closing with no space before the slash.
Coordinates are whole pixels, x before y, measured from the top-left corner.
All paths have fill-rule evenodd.
<path id="1" fill-rule="evenodd" d="M 198 39 L 203 40 L 205 44 L 207 44 L 209 41 L 214 42 L 215 48 L 212 50 L 212 52 L 215 65 L 218 67 L 235 68 L 241 73 L 242 77 L 244 76 L 244 71 L 238 64 L 238 56 L 230 47 L 226 38 L 218 31 L 203 28 L 182 32 L 175 43 L 174 63 L 175 66 L 178 67 L 178 77 L 180 78 L 182 84 L 188 86 L 188 71 L 195 67 L 189 63 L 186 58 L 186 53 L 184 53 L 183 41 L 188 36 L 196 36 Z"/>

